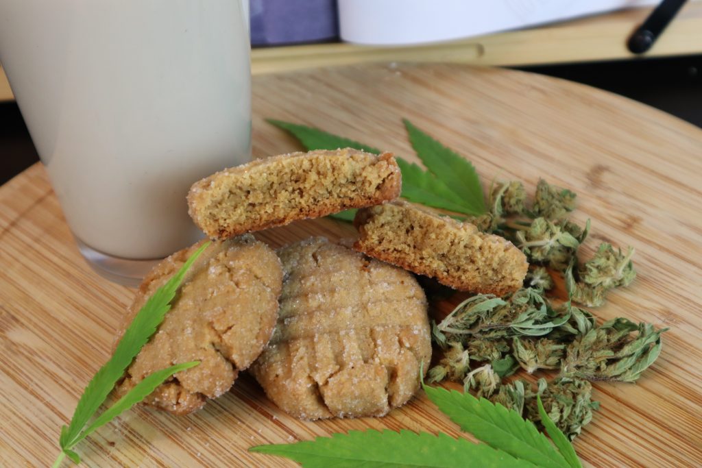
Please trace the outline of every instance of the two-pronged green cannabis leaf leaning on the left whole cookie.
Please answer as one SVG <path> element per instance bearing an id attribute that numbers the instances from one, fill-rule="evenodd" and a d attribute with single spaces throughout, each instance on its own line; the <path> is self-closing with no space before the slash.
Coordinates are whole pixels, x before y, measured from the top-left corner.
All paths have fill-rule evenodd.
<path id="1" fill-rule="evenodd" d="M 97 373 L 95 373 L 93 379 L 90 381 L 90 383 L 88 383 L 88 386 L 78 401 L 78 405 L 73 413 L 70 424 L 67 427 L 63 426 L 61 428 L 61 435 L 59 438 L 61 453 L 58 460 L 56 460 L 57 464 L 55 464 L 55 466 L 58 466 L 60 460 L 62 460 L 65 456 L 68 456 L 74 462 L 80 461 L 77 453 L 73 452 L 71 449 L 79 441 L 84 439 L 90 432 L 93 432 L 100 425 L 109 422 L 112 417 L 115 417 L 121 413 L 121 410 L 114 413 L 112 408 L 123 408 L 122 410 L 131 408 L 134 403 L 141 401 L 145 396 L 147 396 L 147 394 L 152 392 L 154 388 L 158 387 L 161 382 L 173 375 L 173 373 L 197 365 L 197 362 L 184 363 L 154 373 L 154 377 L 152 379 L 147 380 L 147 382 L 141 387 L 137 385 L 131 389 L 128 394 L 115 403 L 112 408 L 107 410 L 106 413 L 110 413 L 112 417 L 109 419 L 99 417 L 98 420 L 95 420 L 95 422 L 91 424 L 91 427 L 83 430 L 85 425 L 88 423 L 88 420 L 95 415 L 98 408 L 100 408 L 100 405 L 105 402 L 107 395 L 112 392 L 117 380 L 124 375 L 126 368 L 131 364 L 134 357 L 139 354 L 141 348 L 146 344 L 151 335 L 154 334 L 161 321 L 164 320 L 166 312 L 171 309 L 171 301 L 174 297 L 176 297 L 176 292 L 180 286 L 180 283 L 183 281 L 183 277 L 185 276 L 187 269 L 190 268 L 190 265 L 192 265 L 200 253 L 202 253 L 202 251 L 208 245 L 209 242 L 204 243 L 193 255 L 190 256 L 190 258 L 187 259 L 185 264 L 183 264 L 183 267 L 180 267 L 178 272 L 173 275 L 171 279 L 164 284 L 164 286 L 158 288 L 149 298 L 149 300 L 147 300 L 144 307 L 142 307 L 138 314 L 136 314 L 132 323 L 126 329 L 124 335 L 122 335 L 121 340 L 119 340 L 117 348 L 114 350 L 114 354 L 112 354 L 110 360 L 107 361 L 107 363 L 105 363 L 105 365 L 103 365 Z M 170 370 L 173 371 L 168 373 Z M 161 378 L 161 381 L 156 383 L 159 378 Z M 153 388 L 147 393 L 144 393 L 149 390 L 152 385 Z M 143 396 L 140 396 L 142 394 Z M 115 410 L 117 410 L 117 408 L 115 408 Z M 100 424 L 97 424 L 98 421 L 100 421 Z"/>

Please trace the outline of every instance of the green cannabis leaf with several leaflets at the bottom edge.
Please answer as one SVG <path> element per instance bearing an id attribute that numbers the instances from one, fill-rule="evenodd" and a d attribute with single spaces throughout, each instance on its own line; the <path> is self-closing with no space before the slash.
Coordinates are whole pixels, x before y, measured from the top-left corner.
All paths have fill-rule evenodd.
<path id="1" fill-rule="evenodd" d="M 555 426 L 549 434 L 514 410 L 441 388 L 424 387 L 439 410 L 485 443 L 401 430 L 351 431 L 314 441 L 256 446 L 249 451 L 290 458 L 305 468 L 326 467 L 580 467 L 573 447 Z M 552 423 L 551 423 L 552 424 Z M 557 440 L 557 442 L 556 442 Z"/>

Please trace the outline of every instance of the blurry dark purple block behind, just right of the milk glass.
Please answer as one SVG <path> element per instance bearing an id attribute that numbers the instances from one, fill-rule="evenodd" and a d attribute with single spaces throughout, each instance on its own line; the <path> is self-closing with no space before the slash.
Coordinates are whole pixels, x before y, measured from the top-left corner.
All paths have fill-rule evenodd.
<path id="1" fill-rule="evenodd" d="M 337 39 L 336 0 L 250 0 L 251 45 Z"/>

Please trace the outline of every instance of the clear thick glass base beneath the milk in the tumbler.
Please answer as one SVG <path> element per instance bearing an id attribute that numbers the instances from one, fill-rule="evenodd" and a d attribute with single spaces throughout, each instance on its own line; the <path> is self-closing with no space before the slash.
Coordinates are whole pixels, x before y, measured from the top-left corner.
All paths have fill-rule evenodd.
<path id="1" fill-rule="evenodd" d="M 130 288 L 140 285 L 144 276 L 160 262 L 161 258 L 154 260 L 128 260 L 126 258 L 113 257 L 106 253 L 98 252 L 86 246 L 80 239 L 76 238 L 78 250 L 88 262 L 93 271 L 113 283 L 119 283 Z"/>

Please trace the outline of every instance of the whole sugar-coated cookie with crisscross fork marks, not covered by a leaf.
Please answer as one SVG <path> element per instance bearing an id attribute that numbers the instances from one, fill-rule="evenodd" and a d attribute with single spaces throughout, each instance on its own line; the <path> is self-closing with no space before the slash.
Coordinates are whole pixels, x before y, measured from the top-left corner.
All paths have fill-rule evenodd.
<path id="1" fill-rule="evenodd" d="M 416 279 L 323 238 L 278 253 L 280 315 L 251 366 L 267 396 L 305 420 L 381 416 L 406 403 L 431 359 Z"/>

